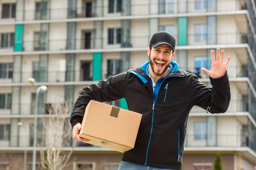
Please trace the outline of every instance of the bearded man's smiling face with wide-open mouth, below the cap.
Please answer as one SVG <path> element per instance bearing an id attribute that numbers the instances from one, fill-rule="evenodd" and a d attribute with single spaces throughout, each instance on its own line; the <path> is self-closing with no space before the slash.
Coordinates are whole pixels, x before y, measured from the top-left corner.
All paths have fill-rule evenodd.
<path id="1" fill-rule="evenodd" d="M 169 65 L 175 56 L 175 51 L 172 51 L 172 48 L 167 44 L 158 45 L 155 48 L 148 47 L 149 63 L 156 76 L 162 76 L 169 72 Z"/>

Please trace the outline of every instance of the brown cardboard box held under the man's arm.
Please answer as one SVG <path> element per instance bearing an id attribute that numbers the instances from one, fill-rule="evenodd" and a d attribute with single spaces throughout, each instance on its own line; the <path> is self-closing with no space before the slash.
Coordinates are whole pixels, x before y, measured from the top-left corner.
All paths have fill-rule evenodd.
<path id="1" fill-rule="evenodd" d="M 142 114 L 91 100 L 87 105 L 79 137 L 86 142 L 119 152 L 134 148 Z"/>

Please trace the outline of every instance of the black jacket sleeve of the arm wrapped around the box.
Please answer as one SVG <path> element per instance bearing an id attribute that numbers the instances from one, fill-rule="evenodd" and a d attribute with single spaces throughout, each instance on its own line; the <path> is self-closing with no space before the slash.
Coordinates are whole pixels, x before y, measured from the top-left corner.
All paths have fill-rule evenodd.
<path id="1" fill-rule="evenodd" d="M 90 100 L 99 102 L 111 102 L 125 98 L 125 85 L 128 71 L 112 76 L 106 80 L 100 80 L 89 87 L 83 88 L 70 114 L 72 128 L 81 123 L 84 111 Z"/>

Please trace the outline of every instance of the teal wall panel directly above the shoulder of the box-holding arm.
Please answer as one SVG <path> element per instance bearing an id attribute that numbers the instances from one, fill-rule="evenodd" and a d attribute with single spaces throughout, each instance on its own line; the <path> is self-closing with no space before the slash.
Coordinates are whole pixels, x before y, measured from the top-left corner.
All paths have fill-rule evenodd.
<path id="1" fill-rule="evenodd" d="M 93 81 L 102 79 L 102 53 L 93 53 Z"/>

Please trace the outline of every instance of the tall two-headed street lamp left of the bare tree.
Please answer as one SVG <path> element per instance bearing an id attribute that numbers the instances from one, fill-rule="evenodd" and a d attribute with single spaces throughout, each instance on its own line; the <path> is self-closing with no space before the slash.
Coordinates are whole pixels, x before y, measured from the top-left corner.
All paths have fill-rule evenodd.
<path id="1" fill-rule="evenodd" d="M 33 167 L 32 170 L 35 170 L 35 161 L 36 161 L 36 136 L 37 136 L 37 118 L 38 118 L 38 99 L 39 99 L 39 93 L 40 91 L 44 92 L 47 91 L 47 87 L 45 85 L 42 85 L 38 88 L 35 86 L 35 79 L 29 78 L 28 82 L 33 85 L 36 89 L 36 95 L 35 95 L 35 125 L 34 125 L 34 140 L 33 140 Z"/>

